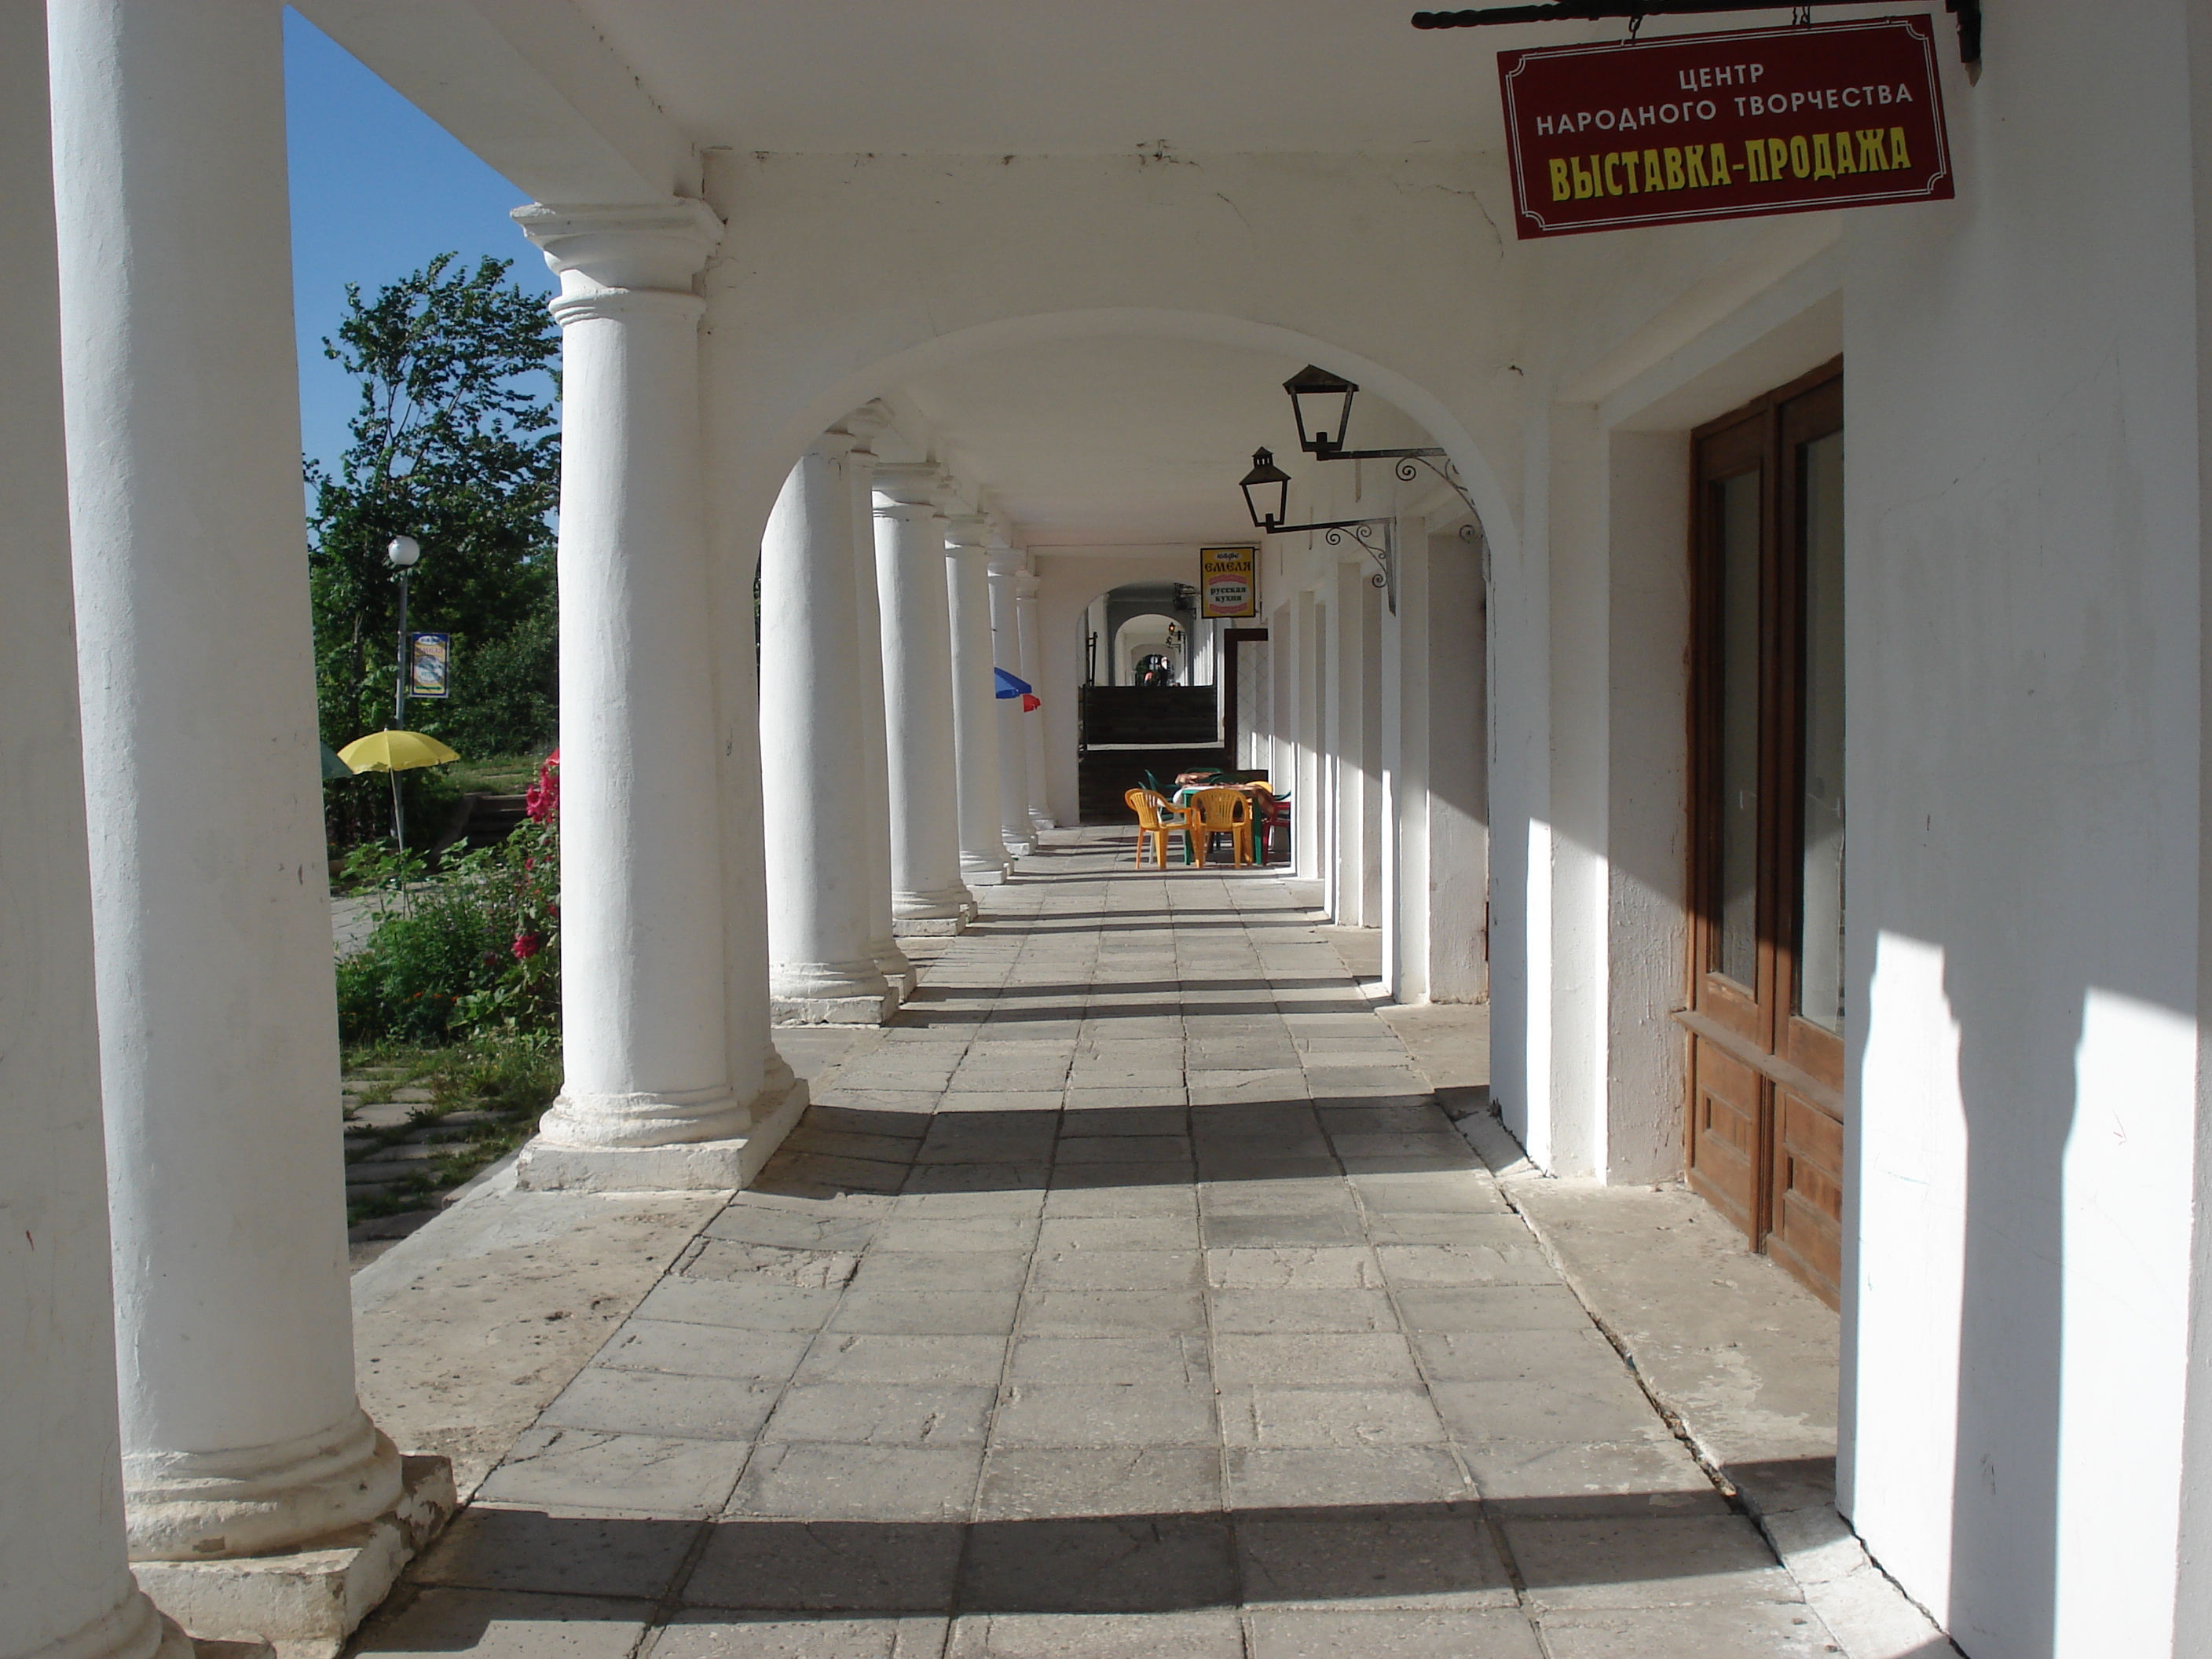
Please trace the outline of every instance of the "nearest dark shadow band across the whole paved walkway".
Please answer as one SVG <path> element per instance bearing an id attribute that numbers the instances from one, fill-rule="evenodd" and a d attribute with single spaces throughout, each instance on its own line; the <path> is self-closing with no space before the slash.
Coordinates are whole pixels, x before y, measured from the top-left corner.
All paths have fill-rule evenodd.
<path id="1" fill-rule="evenodd" d="M 566 1615 L 575 1621 L 635 1619 L 639 1601 L 801 1621 L 832 1613 L 1511 1606 L 1517 1586 L 1542 1597 L 1601 1584 L 1632 1584 L 1659 1606 L 1686 1599 L 1668 1584 L 1770 1568 L 1759 1535 L 1730 1520 L 1708 1486 L 987 1522 L 633 1520 L 473 1506 L 411 1577 L 624 1597 L 575 1601 Z M 442 1617 L 436 1637 L 409 1646 L 400 1615 L 376 1646 L 453 1652 L 484 1637 L 489 1617 L 476 1628 Z"/>

